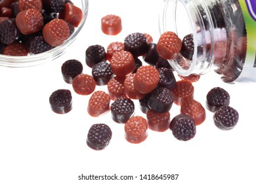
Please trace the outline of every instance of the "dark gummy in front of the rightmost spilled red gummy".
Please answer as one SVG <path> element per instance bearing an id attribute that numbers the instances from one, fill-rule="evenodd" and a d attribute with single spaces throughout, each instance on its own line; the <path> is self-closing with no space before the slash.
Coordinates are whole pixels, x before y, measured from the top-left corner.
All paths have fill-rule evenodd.
<path id="1" fill-rule="evenodd" d="M 191 116 L 179 114 L 171 120 L 169 126 L 173 136 L 180 141 L 189 141 L 196 135 L 196 124 Z"/>

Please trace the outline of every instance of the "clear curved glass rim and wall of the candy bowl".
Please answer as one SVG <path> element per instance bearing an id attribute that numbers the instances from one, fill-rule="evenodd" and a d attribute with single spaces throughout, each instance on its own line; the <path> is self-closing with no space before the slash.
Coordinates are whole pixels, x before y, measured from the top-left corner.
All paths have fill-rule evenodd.
<path id="1" fill-rule="evenodd" d="M 28 56 L 5 56 L 3 54 L 0 54 L 0 66 L 5 66 L 5 67 L 30 67 L 30 66 L 35 66 L 39 65 L 41 63 L 45 63 L 46 61 L 54 60 L 66 51 L 68 46 L 72 44 L 72 42 L 75 41 L 75 38 L 81 31 L 83 25 L 85 24 L 85 20 L 87 18 L 88 14 L 88 0 L 79 0 L 75 1 L 74 5 L 76 7 L 81 8 L 83 12 L 83 19 L 81 20 L 81 23 L 79 24 L 78 27 L 75 27 L 74 33 L 70 35 L 70 37 L 60 46 L 56 46 L 55 48 L 43 52 L 40 54 L 33 54 L 33 55 L 28 55 Z"/>

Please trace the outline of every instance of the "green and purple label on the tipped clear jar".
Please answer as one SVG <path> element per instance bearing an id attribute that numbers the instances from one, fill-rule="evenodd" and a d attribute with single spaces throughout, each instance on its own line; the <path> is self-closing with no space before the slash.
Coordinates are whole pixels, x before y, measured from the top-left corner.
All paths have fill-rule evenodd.
<path id="1" fill-rule="evenodd" d="M 247 54 L 244 69 L 240 77 L 256 81 L 256 1 L 238 0 L 244 15 L 245 28 L 247 33 Z"/>

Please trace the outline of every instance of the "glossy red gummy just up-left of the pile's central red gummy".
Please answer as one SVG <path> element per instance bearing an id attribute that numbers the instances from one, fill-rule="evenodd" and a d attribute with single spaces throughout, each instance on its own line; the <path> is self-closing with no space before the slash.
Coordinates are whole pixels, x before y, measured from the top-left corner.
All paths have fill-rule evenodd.
<path id="1" fill-rule="evenodd" d="M 114 75 L 124 77 L 136 69 L 135 59 L 131 52 L 121 50 L 116 52 L 110 61 Z"/>

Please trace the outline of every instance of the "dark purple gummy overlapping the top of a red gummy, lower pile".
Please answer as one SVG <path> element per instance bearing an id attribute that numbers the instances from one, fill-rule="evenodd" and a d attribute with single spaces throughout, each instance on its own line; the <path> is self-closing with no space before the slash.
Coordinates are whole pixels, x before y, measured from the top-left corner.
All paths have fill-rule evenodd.
<path id="1" fill-rule="evenodd" d="M 148 107 L 156 112 L 168 112 L 173 105 L 174 97 L 167 88 L 156 88 L 150 93 Z"/>

